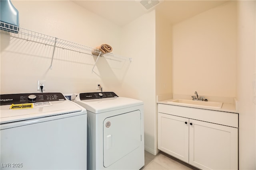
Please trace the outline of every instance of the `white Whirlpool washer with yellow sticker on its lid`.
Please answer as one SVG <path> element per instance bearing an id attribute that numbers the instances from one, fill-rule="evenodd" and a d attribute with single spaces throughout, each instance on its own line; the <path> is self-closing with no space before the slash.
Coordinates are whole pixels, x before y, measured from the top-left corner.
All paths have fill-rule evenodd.
<path id="1" fill-rule="evenodd" d="M 87 167 L 87 112 L 61 93 L 0 95 L 1 170 Z"/>

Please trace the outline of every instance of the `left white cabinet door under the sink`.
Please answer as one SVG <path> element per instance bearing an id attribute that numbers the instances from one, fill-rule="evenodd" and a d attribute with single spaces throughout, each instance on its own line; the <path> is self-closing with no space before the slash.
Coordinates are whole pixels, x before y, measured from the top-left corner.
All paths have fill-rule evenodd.
<path id="1" fill-rule="evenodd" d="M 188 162 L 188 118 L 158 113 L 158 149 Z"/>

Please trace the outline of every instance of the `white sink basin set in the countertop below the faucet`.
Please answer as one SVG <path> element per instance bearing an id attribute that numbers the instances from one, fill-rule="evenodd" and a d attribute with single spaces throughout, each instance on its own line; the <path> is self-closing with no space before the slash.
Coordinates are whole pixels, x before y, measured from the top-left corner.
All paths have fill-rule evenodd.
<path id="1" fill-rule="evenodd" d="M 205 102 L 205 101 L 186 100 L 186 99 L 174 99 L 169 101 L 168 103 L 186 104 L 188 106 L 207 106 L 207 107 L 215 107 L 215 108 L 221 108 L 223 104 L 222 102 Z"/>

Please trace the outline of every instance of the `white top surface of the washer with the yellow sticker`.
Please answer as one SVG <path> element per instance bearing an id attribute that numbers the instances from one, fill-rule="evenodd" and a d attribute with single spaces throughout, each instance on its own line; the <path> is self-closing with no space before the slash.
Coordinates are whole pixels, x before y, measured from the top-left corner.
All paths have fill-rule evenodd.
<path id="1" fill-rule="evenodd" d="M 24 94 L 22 94 L 24 96 Z M 1 95 L 2 97 L 2 95 Z M 12 100 L 12 98 L 9 98 Z M 1 103 L 3 98 L 1 98 Z M 26 102 L 28 103 L 28 102 Z M 31 102 L 30 102 L 31 103 Z M 20 103 L 19 103 L 20 104 Z M 22 103 L 24 104 L 24 103 Z M 39 117 L 48 117 L 65 113 L 81 112 L 86 113 L 86 109 L 70 100 L 45 101 L 32 103 L 33 108 L 10 109 L 11 104 L 0 106 L 0 124 L 14 121 L 22 121 L 27 119 L 35 119 Z"/>

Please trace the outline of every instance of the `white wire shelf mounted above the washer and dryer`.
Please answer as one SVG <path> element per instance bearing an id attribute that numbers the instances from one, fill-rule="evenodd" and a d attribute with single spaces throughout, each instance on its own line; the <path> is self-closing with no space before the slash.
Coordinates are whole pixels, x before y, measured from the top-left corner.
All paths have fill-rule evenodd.
<path id="1" fill-rule="evenodd" d="M 116 55 L 113 53 L 102 54 L 100 52 L 100 50 L 96 49 L 96 48 L 88 47 L 85 45 L 80 45 L 78 43 L 73 43 L 70 41 L 63 40 L 63 39 L 58 39 L 57 37 L 52 37 L 49 35 L 38 33 L 38 32 L 24 29 L 21 27 L 17 27 L 15 25 L 11 25 L 11 24 L 4 23 L 1 21 L 0 21 L 0 29 L 4 30 L 4 31 L 0 31 L 1 33 L 8 34 L 11 37 L 23 39 L 26 41 L 32 41 L 35 43 L 41 43 L 44 45 L 49 45 L 49 46 L 54 47 L 54 49 L 55 49 L 55 47 L 57 47 L 57 48 L 66 49 L 66 50 L 70 50 L 70 51 L 76 51 L 79 53 L 85 53 L 85 54 L 89 54 L 89 55 L 92 55 L 92 52 L 97 52 L 97 53 L 99 53 L 98 57 L 101 55 L 103 55 L 103 56 L 106 55 L 109 57 L 132 61 L 132 58 L 121 57 L 120 55 Z M 53 51 L 52 59 L 53 59 L 53 56 L 54 56 L 54 51 Z M 51 66 L 52 66 L 52 63 L 51 63 Z"/>

